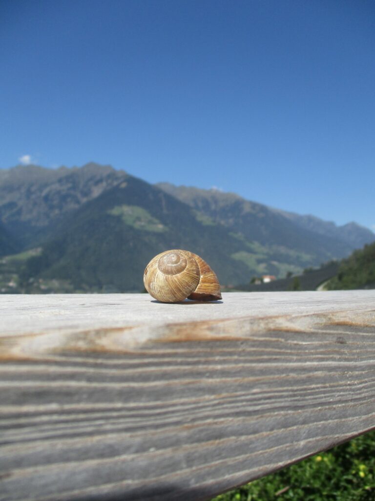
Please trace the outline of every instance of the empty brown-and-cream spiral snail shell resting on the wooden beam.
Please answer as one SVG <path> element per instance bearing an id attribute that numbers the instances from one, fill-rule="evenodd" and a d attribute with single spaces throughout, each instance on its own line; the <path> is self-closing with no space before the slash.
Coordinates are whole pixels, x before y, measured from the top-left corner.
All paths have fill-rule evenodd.
<path id="1" fill-rule="evenodd" d="M 143 275 L 147 292 L 163 303 L 184 299 L 221 299 L 220 284 L 214 272 L 199 256 L 187 250 L 166 250 L 155 256 Z"/>

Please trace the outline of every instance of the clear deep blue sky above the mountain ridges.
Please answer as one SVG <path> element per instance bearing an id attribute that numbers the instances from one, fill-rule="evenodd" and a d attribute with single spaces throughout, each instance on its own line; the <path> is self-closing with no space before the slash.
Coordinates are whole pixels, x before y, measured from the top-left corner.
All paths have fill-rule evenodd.
<path id="1" fill-rule="evenodd" d="M 2 168 L 93 160 L 375 228 L 372 0 L 1 0 L 0 69 Z"/>

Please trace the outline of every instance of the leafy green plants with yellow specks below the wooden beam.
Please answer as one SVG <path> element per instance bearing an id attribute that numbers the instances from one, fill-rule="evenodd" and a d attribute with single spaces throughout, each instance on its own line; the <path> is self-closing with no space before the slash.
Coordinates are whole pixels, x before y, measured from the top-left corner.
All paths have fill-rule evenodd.
<path id="1" fill-rule="evenodd" d="M 372 431 L 212 501 L 373 501 L 374 451 Z"/>

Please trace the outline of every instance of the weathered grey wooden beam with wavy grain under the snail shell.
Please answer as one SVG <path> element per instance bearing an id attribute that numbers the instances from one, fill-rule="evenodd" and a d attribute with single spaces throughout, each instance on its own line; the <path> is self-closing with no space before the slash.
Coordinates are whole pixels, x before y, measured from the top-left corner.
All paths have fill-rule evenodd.
<path id="1" fill-rule="evenodd" d="M 375 291 L 0 296 L 0 499 L 209 499 L 375 427 Z"/>

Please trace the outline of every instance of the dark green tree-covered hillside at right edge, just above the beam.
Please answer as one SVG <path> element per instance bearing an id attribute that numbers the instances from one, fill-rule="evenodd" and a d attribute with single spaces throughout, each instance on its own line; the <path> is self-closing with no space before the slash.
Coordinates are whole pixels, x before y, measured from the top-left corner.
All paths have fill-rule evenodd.
<path id="1" fill-rule="evenodd" d="M 327 283 L 326 289 L 375 289 L 375 242 L 342 260 L 337 276 Z"/>

